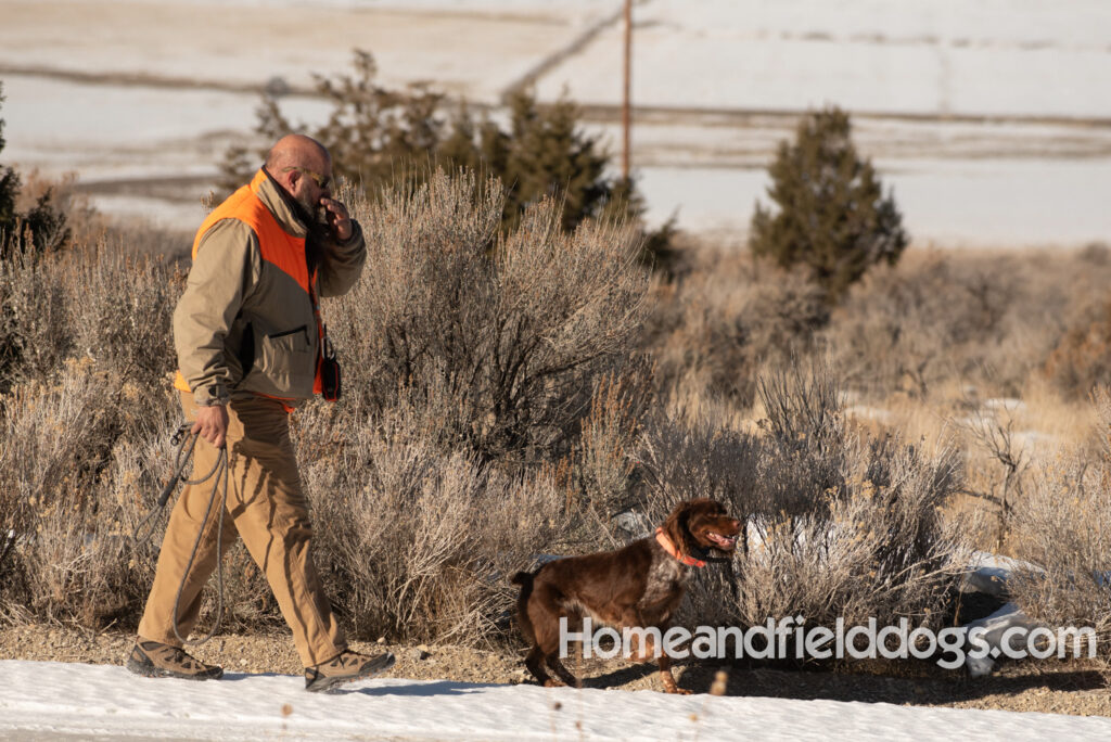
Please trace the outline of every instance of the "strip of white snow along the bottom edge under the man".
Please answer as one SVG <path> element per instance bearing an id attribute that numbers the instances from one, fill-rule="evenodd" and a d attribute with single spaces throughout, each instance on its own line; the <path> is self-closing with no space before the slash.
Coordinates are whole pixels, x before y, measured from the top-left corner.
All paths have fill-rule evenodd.
<path id="1" fill-rule="evenodd" d="M 290 675 L 196 683 L 123 668 L 0 661 L 11 740 L 1105 740 L 1111 719 L 654 691 Z"/>

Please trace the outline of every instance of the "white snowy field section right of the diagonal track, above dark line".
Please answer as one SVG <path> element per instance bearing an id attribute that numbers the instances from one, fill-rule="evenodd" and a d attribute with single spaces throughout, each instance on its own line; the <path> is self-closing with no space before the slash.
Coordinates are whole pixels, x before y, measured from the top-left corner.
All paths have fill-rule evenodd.
<path id="1" fill-rule="evenodd" d="M 1111 116 L 1111 7 L 1100 0 L 651 0 L 637 8 L 633 98 L 650 106 Z M 613 101 L 600 59 L 619 26 L 546 76 Z"/>

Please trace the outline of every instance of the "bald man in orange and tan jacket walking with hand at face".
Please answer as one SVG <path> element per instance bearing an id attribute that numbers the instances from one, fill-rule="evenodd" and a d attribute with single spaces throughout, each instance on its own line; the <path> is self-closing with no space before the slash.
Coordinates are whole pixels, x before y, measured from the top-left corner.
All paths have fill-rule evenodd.
<path id="1" fill-rule="evenodd" d="M 227 450 L 227 505 L 221 513 L 213 508 L 202 522 L 211 482 L 182 491 L 127 662 L 138 674 L 193 680 L 223 674 L 187 654 L 179 635 L 197 623 L 201 588 L 237 533 L 293 631 L 308 690 L 368 678 L 393 664 L 388 652 L 347 649 L 312 562 L 312 528 L 289 438 L 288 413 L 322 388 L 318 297 L 350 290 L 367 258 L 359 223 L 331 198 L 331 172 L 323 146 L 300 134 L 284 137 L 250 184 L 217 207 L 197 232 L 193 267 L 173 313 L 174 385 L 199 435 L 193 475 L 210 471 Z M 223 520 L 219 545 L 218 518 Z"/>

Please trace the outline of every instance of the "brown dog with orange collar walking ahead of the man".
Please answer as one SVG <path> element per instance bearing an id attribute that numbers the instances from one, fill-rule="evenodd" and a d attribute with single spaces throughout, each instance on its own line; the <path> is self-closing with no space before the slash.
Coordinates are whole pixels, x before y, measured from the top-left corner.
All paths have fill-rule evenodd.
<path id="1" fill-rule="evenodd" d="M 730 553 L 737 545 L 741 523 L 713 500 L 680 503 L 655 535 L 634 541 L 617 551 L 569 556 L 541 566 L 533 573 L 518 572 L 512 582 L 521 585 L 518 620 L 532 650 L 524 663 L 542 685 L 558 685 L 544 665 L 568 685 L 579 680 L 560 662 L 560 618 L 568 630 L 578 631 L 584 615 L 621 631 L 654 626 L 660 632 L 687 590 L 692 570 L 704 566 L 710 549 Z M 647 660 L 651 646 L 640 646 L 638 659 Z M 660 653 L 660 679 L 668 693 L 689 693 L 675 685 L 671 662 Z"/>

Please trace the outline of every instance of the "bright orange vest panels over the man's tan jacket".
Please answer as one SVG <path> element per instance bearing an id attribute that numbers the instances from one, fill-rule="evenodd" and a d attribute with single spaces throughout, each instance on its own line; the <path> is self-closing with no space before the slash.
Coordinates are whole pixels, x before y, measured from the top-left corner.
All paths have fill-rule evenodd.
<path id="1" fill-rule="evenodd" d="M 200 247 L 201 240 L 217 222 L 224 219 L 238 219 L 251 228 L 251 231 L 254 232 L 254 235 L 259 240 L 259 251 L 262 253 L 262 260 L 271 263 L 278 270 L 296 280 L 297 284 L 309 294 L 309 300 L 312 302 L 312 313 L 317 318 L 318 338 L 317 375 L 313 381 L 312 391 L 319 394 L 322 390 L 320 358 L 324 331 L 323 323 L 320 320 L 320 305 L 317 302 L 317 272 L 313 271 L 312 275 L 309 275 L 309 263 L 304 255 L 304 238 L 293 237 L 282 229 L 281 224 L 278 223 L 278 220 L 270 212 L 270 209 L 259 198 L 259 189 L 266 181 L 267 173 L 260 169 L 248 186 L 243 186 L 237 190 L 223 203 L 212 210 L 208 218 L 201 222 L 200 229 L 197 230 L 197 237 L 193 238 L 192 258 L 193 260 L 197 259 L 197 249 Z M 192 391 L 189 389 L 186 378 L 181 375 L 180 370 L 177 372 L 173 385 L 184 392 Z M 272 399 L 280 400 L 281 398 Z M 292 410 L 288 405 L 286 409 L 287 411 Z"/>

